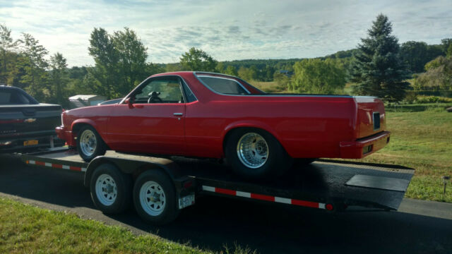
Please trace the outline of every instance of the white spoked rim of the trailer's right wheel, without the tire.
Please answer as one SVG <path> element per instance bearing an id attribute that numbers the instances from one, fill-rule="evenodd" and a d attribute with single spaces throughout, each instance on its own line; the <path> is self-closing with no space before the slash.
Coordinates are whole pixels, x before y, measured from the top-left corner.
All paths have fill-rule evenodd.
<path id="1" fill-rule="evenodd" d="M 158 216 L 165 210 L 167 198 L 162 186 L 155 181 L 147 181 L 140 188 L 140 204 L 150 216 Z"/>

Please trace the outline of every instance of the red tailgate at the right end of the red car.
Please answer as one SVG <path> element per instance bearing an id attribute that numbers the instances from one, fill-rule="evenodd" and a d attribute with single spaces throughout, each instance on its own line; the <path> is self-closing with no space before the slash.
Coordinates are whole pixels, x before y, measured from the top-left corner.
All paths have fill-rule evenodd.
<path id="1" fill-rule="evenodd" d="M 381 99 L 355 97 L 357 104 L 357 132 L 355 138 L 364 138 L 386 131 L 386 114 Z"/>

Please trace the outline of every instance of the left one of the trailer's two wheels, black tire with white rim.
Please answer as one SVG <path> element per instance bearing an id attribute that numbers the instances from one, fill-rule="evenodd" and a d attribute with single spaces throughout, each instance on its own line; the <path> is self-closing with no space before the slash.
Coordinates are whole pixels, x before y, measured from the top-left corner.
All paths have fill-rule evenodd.
<path id="1" fill-rule="evenodd" d="M 105 179 L 105 176 L 107 176 L 107 179 Z M 114 181 L 116 188 L 114 188 L 111 184 L 111 180 Z M 112 189 L 105 190 L 102 186 Z M 107 192 L 109 191 L 116 191 L 116 195 L 108 195 Z M 131 175 L 124 174 L 113 164 L 100 164 L 96 169 L 94 169 L 93 174 L 91 175 L 91 198 L 93 199 L 94 205 L 106 214 L 124 212 L 124 210 L 129 208 L 132 198 L 131 191 Z M 111 196 L 114 196 L 114 198 Z M 112 202 L 109 203 L 106 202 L 106 200 Z"/>

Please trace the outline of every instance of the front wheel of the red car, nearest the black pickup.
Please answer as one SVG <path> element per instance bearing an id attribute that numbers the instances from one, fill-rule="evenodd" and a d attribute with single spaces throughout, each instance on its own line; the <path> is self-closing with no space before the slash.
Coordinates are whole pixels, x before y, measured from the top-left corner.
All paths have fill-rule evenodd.
<path id="1" fill-rule="evenodd" d="M 77 151 L 85 162 L 99 155 L 105 155 L 106 145 L 104 140 L 92 126 L 83 126 L 77 135 Z"/>

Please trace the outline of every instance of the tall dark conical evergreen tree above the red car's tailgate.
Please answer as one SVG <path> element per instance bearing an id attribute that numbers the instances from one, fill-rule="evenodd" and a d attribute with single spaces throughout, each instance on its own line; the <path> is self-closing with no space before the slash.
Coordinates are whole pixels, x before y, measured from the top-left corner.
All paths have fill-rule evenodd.
<path id="1" fill-rule="evenodd" d="M 398 39 L 391 32 L 388 17 L 380 14 L 368 30 L 368 37 L 361 39 L 352 63 L 352 81 L 357 83 L 353 87 L 355 94 L 396 102 L 405 97 L 408 71 L 400 61 Z"/>

